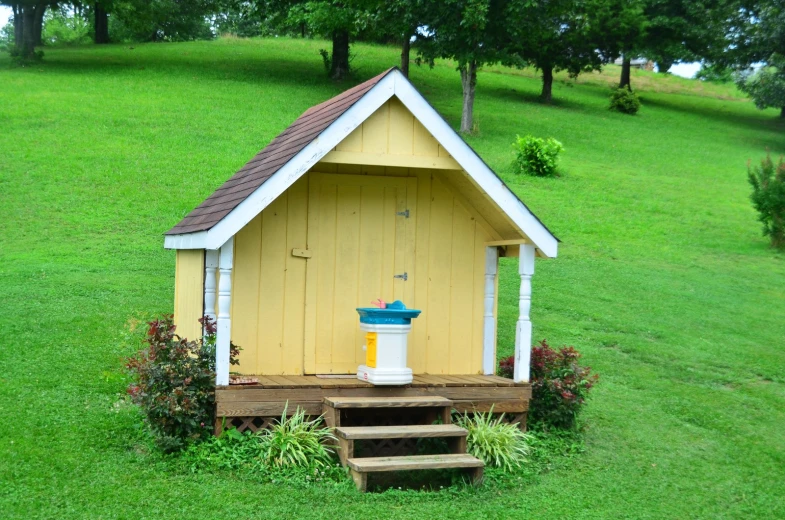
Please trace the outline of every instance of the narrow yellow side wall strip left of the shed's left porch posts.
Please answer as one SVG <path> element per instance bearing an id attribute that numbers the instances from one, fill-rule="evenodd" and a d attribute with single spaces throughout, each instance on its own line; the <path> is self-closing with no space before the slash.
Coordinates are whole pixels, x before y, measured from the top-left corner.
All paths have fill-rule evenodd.
<path id="1" fill-rule="evenodd" d="M 174 323 L 177 334 L 188 339 L 202 337 L 199 318 L 204 305 L 204 250 L 179 249 L 175 261 Z"/>

